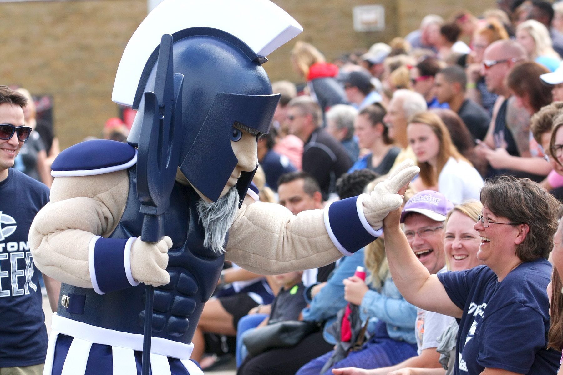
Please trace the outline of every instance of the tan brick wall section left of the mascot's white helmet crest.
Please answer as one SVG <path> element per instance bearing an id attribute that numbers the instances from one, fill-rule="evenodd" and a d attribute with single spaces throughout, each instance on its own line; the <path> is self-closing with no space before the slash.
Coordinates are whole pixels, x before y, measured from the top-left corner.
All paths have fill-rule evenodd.
<path id="1" fill-rule="evenodd" d="M 52 94 L 61 147 L 99 136 L 117 115 L 111 89 L 145 0 L 0 4 L 0 82 Z"/>

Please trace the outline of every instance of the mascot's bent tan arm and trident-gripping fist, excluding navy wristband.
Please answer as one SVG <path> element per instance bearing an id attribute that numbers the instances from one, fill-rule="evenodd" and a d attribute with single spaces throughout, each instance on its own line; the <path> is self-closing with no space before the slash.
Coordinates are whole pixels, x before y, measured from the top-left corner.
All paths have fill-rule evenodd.
<path id="1" fill-rule="evenodd" d="M 92 288 L 88 250 L 93 238 L 107 237 L 123 214 L 129 179 L 126 170 L 93 176 L 57 177 L 51 201 L 35 216 L 29 231 L 33 260 L 43 273 L 61 282 Z M 132 277 L 146 284 L 169 282 L 164 269 L 172 241 L 134 240 Z"/>

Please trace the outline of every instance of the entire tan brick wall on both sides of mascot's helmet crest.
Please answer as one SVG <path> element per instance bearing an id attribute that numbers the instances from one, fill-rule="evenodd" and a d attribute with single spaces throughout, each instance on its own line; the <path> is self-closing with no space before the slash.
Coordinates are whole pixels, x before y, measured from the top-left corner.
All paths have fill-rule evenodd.
<path id="1" fill-rule="evenodd" d="M 204 1 L 204 0 L 201 0 Z M 236 0 L 233 0 L 236 1 Z M 447 17 L 458 8 L 480 13 L 494 0 L 274 0 L 330 60 L 354 48 L 388 42 L 418 28 L 423 16 Z M 382 4 L 386 29 L 358 33 L 352 7 Z M 33 94 L 52 94 L 55 132 L 68 147 L 99 136 L 117 115 L 111 102 L 115 71 L 129 37 L 146 16 L 146 0 L 81 0 L 0 3 L 0 83 L 19 84 Z M 259 30 L 257 30 L 259 32 Z M 269 56 L 271 80 L 302 80 L 289 64 L 289 42 Z"/>

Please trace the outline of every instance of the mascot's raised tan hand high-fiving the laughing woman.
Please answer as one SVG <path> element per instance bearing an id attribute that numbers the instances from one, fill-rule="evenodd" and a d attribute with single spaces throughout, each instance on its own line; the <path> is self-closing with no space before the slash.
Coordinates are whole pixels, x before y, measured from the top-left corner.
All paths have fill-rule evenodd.
<path id="1" fill-rule="evenodd" d="M 408 184 L 419 171 L 420 168 L 414 165 L 414 161 L 406 159 L 385 181 L 376 185 L 369 197 L 366 195 L 363 200 L 364 214 L 373 228 L 381 228 L 385 216 L 403 204 L 403 198 L 397 192 Z"/>

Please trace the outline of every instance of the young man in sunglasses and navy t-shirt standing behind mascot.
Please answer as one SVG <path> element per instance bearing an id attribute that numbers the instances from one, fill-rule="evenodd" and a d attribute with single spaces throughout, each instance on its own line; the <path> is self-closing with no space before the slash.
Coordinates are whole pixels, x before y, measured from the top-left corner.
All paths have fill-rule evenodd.
<path id="1" fill-rule="evenodd" d="M 24 125 L 22 94 L 0 86 L 0 373 L 41 374 L 47 353 L 39 273 L 29 251 L 35 214 L 49 200 L 47 186 L 11 168 L 32 129 Z M 60 283 L 43 275 L 51 309 Z"/>

